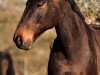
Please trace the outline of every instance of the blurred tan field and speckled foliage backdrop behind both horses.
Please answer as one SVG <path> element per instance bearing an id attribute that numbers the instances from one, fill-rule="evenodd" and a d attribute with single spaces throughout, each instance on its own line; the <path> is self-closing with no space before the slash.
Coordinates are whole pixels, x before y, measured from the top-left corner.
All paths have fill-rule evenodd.
<path id="1" fill-rule="evenodd" d="M 14 61 L 16 75 L 47 75 L 50 45 L 56 33 L 48 30 L 29 51 L 18 49 L 13 34 L 27 0 L 0 0 L 0 51 L 9 51 Z M 75 0 L 88 24 L 100 25 L 100 0 Z M 52 35 L 51 35 L 52 34 Z"/>

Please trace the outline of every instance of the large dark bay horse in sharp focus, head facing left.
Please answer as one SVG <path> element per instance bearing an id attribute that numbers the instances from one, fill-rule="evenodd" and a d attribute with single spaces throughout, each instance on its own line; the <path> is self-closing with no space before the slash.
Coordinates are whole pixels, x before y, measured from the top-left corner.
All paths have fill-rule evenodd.
<path id="1" fill-rule="evenodd" d="M 55 27 L 48 75 L 100 75 L 100 30 L 84 20 L 74 0 L 28 0 L 13 40 L 29 50 L 43 32 Z"/>

